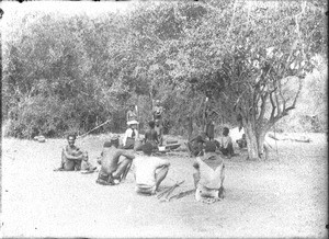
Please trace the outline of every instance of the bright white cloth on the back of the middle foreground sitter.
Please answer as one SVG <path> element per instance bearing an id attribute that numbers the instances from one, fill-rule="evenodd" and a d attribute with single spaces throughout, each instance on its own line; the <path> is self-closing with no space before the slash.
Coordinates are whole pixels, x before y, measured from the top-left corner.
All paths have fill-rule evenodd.
<path id="1" fill-rule="evenodd" d="M 137 185 L 156 185 L 157 169 L 167 163 L 166 160 L 152 156 L 139 156 L 133 161 Z"/>

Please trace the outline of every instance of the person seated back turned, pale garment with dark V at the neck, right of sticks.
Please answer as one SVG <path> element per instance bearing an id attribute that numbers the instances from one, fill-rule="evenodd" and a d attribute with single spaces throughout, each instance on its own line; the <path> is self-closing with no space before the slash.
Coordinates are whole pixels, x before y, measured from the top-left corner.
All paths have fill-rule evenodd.
<path id="1" fill-rule="evenodd" d="M 195 200 L 214 203 L 224 197 L 225 166 L 222 157 L 215 152 L 214 141 L 206 141 L 204 151 L 204 156 L 196 157 L 193 163 Z"/>

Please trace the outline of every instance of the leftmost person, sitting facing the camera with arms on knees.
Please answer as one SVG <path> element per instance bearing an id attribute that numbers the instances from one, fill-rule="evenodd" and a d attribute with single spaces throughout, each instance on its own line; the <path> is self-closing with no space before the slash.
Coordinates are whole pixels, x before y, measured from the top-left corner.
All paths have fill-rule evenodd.
<path id="1" fill-rule="evenodd" d="M 76 144 L 76 135 L 69 134 L 67 136 L 68 145 L 61 150 L 61 163 L 55 171 L 94 171 L 97 167 L 93 167 L 88 160 L 88 152 L 82 151 Z"/>

